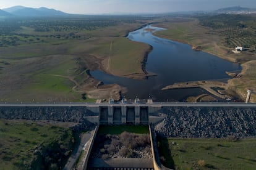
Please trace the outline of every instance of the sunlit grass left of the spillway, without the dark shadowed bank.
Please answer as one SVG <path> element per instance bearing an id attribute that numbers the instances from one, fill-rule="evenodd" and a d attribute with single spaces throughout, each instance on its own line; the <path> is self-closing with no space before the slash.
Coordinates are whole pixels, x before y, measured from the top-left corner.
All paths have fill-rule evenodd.
<path id="1" fill-rule="evenodd" d="M 29 166 L 35 153 L 42 147 L 59 142 L 69 147 L 72 132 L 63 127 L 36 124 L 26 121 L 0 119 L 0 167 L 18 169 L 20 164 Z M 64 134 L 67 136 L 64 136 Z M 17 167 L 18 166 L 18 167 Z M 0 169 L 1 169 L 0 168 Z"/>

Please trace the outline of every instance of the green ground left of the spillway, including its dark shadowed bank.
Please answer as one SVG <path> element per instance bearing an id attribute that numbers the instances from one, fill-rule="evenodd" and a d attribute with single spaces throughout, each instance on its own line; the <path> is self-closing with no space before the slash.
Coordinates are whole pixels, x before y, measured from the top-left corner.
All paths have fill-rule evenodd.
<path id="1" fill-rule="evenodd" d="M 0 169 L 49 169 L 63 166 L 74 137 L 67 127 L 0 119 L 0 146 Z"/>

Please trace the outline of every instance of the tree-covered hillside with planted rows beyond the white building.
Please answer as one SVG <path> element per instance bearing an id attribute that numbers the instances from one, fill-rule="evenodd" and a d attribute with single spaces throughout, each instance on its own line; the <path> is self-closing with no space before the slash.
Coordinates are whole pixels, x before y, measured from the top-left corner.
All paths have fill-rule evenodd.
<path id="1" fill-rule="evenodd" d="M 255 52 L 256 44 L 256 16 L 220 14 L 199 17 L 200 25 L 213 28 L 214 32 L 222 34 L 225 38 L 224 46 L 234 48 L 242 46 Z M 212 31 L 209 31 L 212 33 Z"/>

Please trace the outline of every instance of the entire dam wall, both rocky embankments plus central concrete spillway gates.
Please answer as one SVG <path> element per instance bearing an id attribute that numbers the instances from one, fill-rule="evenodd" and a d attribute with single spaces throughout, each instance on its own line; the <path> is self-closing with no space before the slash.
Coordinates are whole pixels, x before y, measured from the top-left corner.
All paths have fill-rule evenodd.
<path id="1" fill-rule="evenodd" d="M 155 124 L 164 137 L 255 137 L 256 106 L 83 105 L 3 106 L 2 119 L 69 121 L 88 124 Z M 86 127 L 86 126 L 85 126 Z"/>

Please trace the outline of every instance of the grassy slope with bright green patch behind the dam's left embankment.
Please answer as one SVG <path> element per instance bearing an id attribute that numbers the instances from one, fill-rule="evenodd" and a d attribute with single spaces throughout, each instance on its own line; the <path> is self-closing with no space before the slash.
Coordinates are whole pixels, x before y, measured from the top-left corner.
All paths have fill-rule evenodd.
<path id="1" fill-rule="evenodd" d="M 11 92 L 2 95 L 2 99 L 7 102 L 16 99 L 23 102 L 31 102 L 32 99 L 44 102 L 53 99 L 58 102 L 65 98 L 71 101 L 81 99 L 80 92 L 72 90 L 75 84 L 69 79 L 82 71 L 74 55 L 46 55 L 3 61 L 8 61 L 10 65 L 4 66 L 6 70 L 2 70 L 2 76 L 12 78 L 9 83 L 20 83 L 21 87 L 15 91 L 16 95 L 10 95 Z M 79 81 L 87 77 L 84 75 Z"/>

